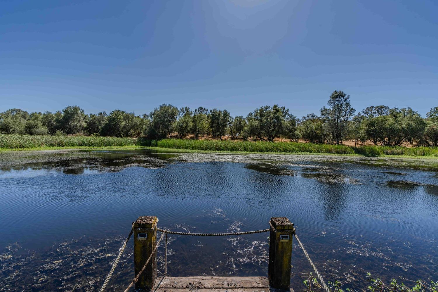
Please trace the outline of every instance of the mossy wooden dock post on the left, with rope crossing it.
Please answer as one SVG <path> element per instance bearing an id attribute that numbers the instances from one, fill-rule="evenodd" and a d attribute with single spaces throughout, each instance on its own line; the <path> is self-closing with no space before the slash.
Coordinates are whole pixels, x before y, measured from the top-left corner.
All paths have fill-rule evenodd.
<path id="1" fill-rule="evenodd" d="M 157 239 L 157 217 L 140 216 L 134 222 L 134 273 L 137 277 L 152 251 Z M 135 289 L 151 290 L 157 278 L 157 256 L 152 256 L 151 261 L 135 283 Z"/>

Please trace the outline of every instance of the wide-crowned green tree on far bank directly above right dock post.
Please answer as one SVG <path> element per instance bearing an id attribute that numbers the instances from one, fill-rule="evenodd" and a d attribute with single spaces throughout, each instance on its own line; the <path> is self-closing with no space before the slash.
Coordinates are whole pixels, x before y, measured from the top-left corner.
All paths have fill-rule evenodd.
<path id="1" fill-rule="evenodd" d="M 290 117 L 289 110 L 285 107 L 274 105 L 264 106 L 254 110 L 247 116 L 251 135 L 263 141 L 273 142 L 285 132 L 286 119 Z"/>

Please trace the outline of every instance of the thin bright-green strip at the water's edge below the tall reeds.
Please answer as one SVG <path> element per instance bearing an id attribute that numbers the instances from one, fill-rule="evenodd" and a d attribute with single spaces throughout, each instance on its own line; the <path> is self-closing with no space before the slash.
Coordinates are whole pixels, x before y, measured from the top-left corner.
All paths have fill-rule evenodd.
<path id="1" fill-rule="evenodd" d="M 436 156 L 408 156 L 408 155 L 381 155 L 379 157 L 367 157 L 361 154 L 336 154 L 336 153 L 314 153 L 314 152 L 250 152 L 250 151 L 221 151 L 221 150 L 192 150 L 179 148 L 163 148 L 153 146 L 72 146 L 72 147 L 35 147 L 35 148 L 0 148 L 1 153 L 7 152 L 58 152 L 58 151 L 81 151 L 81 150 L 156 150 L 173 153 L 206 153 L 206 154 L 279 154 L 279 155 L 314 155 L 314 156 L 335 156 L 335 157 L 364 157 L 364 158 L 395 158 L 395 159 L 423 159 L 437 160 Z"/>

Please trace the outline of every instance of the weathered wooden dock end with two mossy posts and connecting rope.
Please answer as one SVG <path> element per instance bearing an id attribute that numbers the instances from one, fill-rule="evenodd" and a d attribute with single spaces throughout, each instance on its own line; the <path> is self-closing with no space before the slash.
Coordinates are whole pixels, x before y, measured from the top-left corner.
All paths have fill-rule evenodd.
<path id="1" fill-rule="evenodd" d="M 138 291 L 156 292 L 274 292 L 293 291 L 290 288 L 290 267 L 292 254 L 293 224 L 286 217 L 272 217 L 270 229 L 237 232 L 251 234 L 270 232 L 268 277 L 159 277 L 157 275 L 156 249 L 163 235 L 173 232 L 179 235 L 193 236 L 230 236 L 235 233 L 191 234 L 160 229 L 162 235 L 157 242 L 156 216 L 141 216 L 133 223 L 134 235 L 134 273 Z M 167 246 L 167 244 L 166 244 Z M 167 253 L 165 258 L 167 259 Z M 166 260 L 167 267 L 167 260 Z M 166 272 L 165 272 L 166 275 Z M 131 287 L 127 288 L 127 290 Z"/>

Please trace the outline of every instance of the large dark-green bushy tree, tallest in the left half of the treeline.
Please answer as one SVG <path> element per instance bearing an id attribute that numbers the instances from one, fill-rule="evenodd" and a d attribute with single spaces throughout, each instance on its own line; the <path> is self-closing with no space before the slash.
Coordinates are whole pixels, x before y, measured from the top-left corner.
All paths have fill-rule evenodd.
<path id="1" fill-rule="evenodd" d="M 150 114 L 151 128 L 148 133 L 152 139 L 172 138 L 174 124 L 177 121 L 178 108 L 171 104 L 163 103 Z"/>

